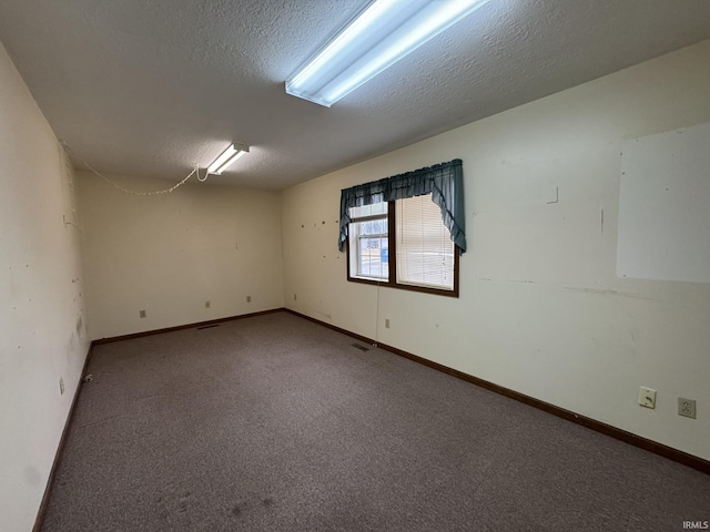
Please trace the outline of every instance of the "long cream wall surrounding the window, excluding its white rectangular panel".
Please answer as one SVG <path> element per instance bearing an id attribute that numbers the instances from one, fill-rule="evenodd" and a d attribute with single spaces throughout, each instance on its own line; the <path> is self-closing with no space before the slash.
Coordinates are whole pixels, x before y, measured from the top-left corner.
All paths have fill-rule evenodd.
<path id="1" fill-rule="evenodd" d="M 710 41 L 286 190 L 287 307 L 710 459 L 710 285 L 616 276 L 623 142 L 710 121 L 708 64 Z M 347 283 L 341 188 L 455 157 L 460 298 Z"/>

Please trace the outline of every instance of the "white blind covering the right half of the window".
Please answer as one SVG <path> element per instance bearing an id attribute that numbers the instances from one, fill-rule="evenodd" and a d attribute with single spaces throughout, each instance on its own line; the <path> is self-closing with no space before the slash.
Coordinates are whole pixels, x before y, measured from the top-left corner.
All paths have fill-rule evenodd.
<path id="1" fill-rule="evenodd" d="M 397 200 L 397 283 L 454 289 L 454 243 L 432 194 Z"/>

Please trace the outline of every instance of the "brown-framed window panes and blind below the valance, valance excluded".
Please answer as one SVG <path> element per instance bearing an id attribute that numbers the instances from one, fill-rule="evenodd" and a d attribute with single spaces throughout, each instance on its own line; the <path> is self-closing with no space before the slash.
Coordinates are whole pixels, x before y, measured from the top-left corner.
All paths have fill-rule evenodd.
<path id="1" fill-rule="evenodd" d="M 457 248 L 432 194 L 348 214 L 348 280 L 458 297 Z"/>

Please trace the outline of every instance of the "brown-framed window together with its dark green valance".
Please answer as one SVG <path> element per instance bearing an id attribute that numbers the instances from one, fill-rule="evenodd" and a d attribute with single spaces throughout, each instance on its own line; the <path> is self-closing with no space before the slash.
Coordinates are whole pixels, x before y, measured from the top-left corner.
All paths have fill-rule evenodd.
<path id="1" fill-rule="evenodd" d="M 348 280 L 458 297 L 463 161 L 343 188 L 337 247 Z"/>

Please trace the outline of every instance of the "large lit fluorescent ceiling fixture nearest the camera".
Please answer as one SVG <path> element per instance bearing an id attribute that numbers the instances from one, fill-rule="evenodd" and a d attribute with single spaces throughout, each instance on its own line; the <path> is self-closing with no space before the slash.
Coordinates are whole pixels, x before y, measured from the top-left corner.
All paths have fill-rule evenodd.
<path id="1" fill-rule="evenodd" d="M 286 81 L 329 108 L 489 0 L 376 0 Z"/>

